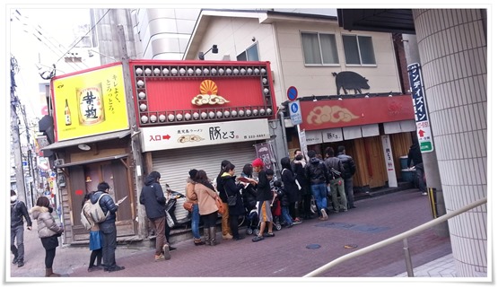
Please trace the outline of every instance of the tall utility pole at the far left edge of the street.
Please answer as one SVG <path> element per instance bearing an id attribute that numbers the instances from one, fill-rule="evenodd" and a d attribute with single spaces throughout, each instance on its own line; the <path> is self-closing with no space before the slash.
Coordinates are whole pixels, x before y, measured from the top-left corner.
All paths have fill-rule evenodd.
<path id="1" fill-rule="evenodd" d="M 22 168 L 21 141 L 19 140 L 19 117 L 17 116 L 17 106 L 19 105 L 19 99 L 17 95 L 15 95 L 16 84 L 14 75 L 17 72 L 17 69 L 17 60 L 15 60 L 14 57 L 11 57 L 11 136 L 13 161 L 15 165 L 17 197 L 19 198 L 19 200 L 26 203 L 24 171 Z"/>

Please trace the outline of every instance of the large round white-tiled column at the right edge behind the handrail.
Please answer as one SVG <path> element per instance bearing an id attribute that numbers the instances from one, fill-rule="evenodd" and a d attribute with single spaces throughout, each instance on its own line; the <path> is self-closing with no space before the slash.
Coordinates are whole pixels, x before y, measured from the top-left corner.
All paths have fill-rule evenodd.
<path id="1" fill-rule="evenodd" d="M 478 9 L 414 10 L 424 86 L 448 211 L 487 195 L 487 44 Z M 487 208 L 449 221 L 459 276 L 487 273 Z"/>

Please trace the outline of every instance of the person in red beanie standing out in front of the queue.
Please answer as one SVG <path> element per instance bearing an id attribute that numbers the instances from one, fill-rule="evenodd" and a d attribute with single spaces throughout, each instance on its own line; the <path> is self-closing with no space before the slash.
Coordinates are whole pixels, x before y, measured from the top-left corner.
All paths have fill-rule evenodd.
<path id="1" fill-rule="evenodd" d="M 254 171 L 258 173 L 256 200 L 258 201 L 259 216 L 259 233 L 252 239 L 252 241 L 258 242 L 260 240 L 264 240 L 266 237 L 275 236 L 273 233 L 273 215 L 271 210 L 271 201 L 273 200 L 274 195 L 270 188 L 270 181 L 266 177 L 264 162 L 260 158 L 257 158 L 252 161 L 252 166 Z M 268 227 L 267 232 L 265 232 L 266 225 Z"/>

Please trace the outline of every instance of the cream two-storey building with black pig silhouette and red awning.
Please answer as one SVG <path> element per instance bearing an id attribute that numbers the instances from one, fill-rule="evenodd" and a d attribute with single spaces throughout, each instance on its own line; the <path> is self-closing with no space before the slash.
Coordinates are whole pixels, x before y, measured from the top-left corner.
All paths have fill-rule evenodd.
<path id="1" fill-rule="evenodd" d="M 415 121 L 391 33 L 345 31 L 329 15 L 203 9 L 185 59 L 195 59 L 213 45 L 218 53 L 206 53 L 205 59 L 264 59 L 272 64 L 283 114 L 275 118 L 275 130 L 285 131 L 275 139 L 276 165 L 298 148 L 323 154 L 328 146 L 345 145 L 359 164 L 356 191 L 384 187 L 389 177 L 401 179 L 399 159 L 412 144 Z M 289 118 L 291 87 L 301 106 L 297 126 Z M 319 107 L 328 112 L 317 115 Z M 314 119 L 323 117 L 327 123 Z M 386 136 L 388 146 L 382 140 Z"/>

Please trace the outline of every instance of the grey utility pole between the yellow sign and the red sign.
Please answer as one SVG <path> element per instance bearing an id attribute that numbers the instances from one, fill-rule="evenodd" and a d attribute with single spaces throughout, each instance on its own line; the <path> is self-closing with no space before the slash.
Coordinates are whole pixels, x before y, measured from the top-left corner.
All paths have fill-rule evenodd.
<path id="1" fill-rule="evenodd" d="M 142 190 L 142 177 L 144 170 L 142 169 L 142 152 L 139 142 L 139 137 L 137 137 L 139 130 L 136 126 L 135 108 L 133 102 L 133 88 L 131 85 L 131 75 L 129 67 L 129 57 L 127 53 L 127 39 L 125 38 L 125 30 L 123 25 L 118 25 L 118 38 L 119 44 L 121 46 L 121 63 L 123 65 L 123 78 L 125 80 L 125 95 L 127 100 L 127 110 L 128 110 L 128 123 L 131 130 L 131 150 L 133 152 L 133 163 L 135 166 L 135 190 L 136 190 L 136 207 L 137 207 L 137 218 L 138 218 L 138 236 L 141 239 L 148 237 L 149 232 L 147 229 L 147 215 L 145 214 L 144 205 L 140 205 L 138 193 Z"/>

